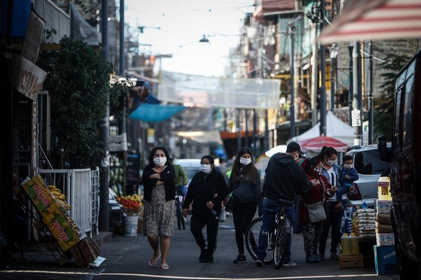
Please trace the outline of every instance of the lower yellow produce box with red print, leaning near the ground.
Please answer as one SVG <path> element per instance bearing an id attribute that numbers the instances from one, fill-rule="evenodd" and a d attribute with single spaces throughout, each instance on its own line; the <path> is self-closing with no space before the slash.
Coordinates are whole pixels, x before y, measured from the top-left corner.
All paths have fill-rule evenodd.
<path id="1" fill-rule="evenodd" d="M 42 220 L 62 251 L 67 251 L 86 237 L 85 232 L 81 231 L 72 218 L 60 209 L 56 209 Z"/>

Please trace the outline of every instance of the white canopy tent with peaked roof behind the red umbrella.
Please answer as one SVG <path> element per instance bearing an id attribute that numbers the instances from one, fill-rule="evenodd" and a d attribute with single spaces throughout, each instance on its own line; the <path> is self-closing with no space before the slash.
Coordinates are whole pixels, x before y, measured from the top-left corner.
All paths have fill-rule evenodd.
<path id="1" fill-rule="evenodd" d="M 320 122 L 317 123 L 314 127 L 307 130 L 301 135 L 297 137 L 293 137 L 293 141 L 304 141 L 307 139 L 311 139 L 314 137 L 318 137 L 320 135 Z M 326 114 L 326 135 L 327 137 L 331 137 L 337 139 L 349 147 L 354 146 L 354 127 L 348 125 L 347 123 L 342 122 L 339 118 L 337 118 L 332 112 L 328 111 Z M 363 145 L 368 144 L 368 132 L 363 132 Z"/>

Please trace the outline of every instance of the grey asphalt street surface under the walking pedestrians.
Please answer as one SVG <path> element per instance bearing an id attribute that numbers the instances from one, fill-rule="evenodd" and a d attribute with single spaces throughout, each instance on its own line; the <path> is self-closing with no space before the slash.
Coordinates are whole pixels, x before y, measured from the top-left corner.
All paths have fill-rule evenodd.
<path id="1" fill-rule="evenodd" d="M 147 238 L 140 234 L 136 237 L 113 235 L 111 241 L 99 248 L 100 256 L 105 261 L 96 268 L 76 267 L 72 260 L 60 267 L 51 253 L 35 251 L 25 253 L 25 261 L 18 259 L 8 267 L 1 267 L 0 279 L 399 279 L 396 274 L 378 276 L 375 267 L 371 265 L 366 268 L 341 269 L 338 260 L 329 258 L 315 264 L 305 263 L 301 233 L 293 234 L 291 247 L 292 260 L 298 264 L 296 267 L 256 267 L 247 253 L 248 262 L 234 264 L 237 249 L 231 216 L 220 223 L 218 248 L 213 263 L 199 262 L 199 247 L 189 231 L 189 225 L 186 230 L 175 229 L 171 237 L 168 270 L 161 269 L 160 262 L 155 267 L 149 266 L 153 252 Z"/>

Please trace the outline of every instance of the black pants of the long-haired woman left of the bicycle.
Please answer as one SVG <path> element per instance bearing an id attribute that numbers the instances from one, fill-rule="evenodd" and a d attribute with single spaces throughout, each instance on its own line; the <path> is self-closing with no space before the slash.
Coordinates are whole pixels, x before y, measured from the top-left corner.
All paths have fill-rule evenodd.
<path id="1" fill-rule="evenodd" d="M 235 241 L 239 254 L 244 254 L 244 236 L 246 230 L 258 208 L 257 202 L 239 203 L 236 202 L 234 209 L 232 209 L 232 220 L 235 228 Z"/>

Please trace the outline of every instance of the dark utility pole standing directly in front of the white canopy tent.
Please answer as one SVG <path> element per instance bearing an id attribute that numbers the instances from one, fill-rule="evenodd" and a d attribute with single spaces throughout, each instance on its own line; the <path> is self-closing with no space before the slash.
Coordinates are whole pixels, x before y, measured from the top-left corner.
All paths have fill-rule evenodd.
<path id="1" fill-rule="evenodd" d="M 320 1 L 321 23 L 320 31 L 323 30 L 325 18 L 325 1 Z M 325 45 L 320 45 L 320 71 L 321 71 L 321 86 L 320 86 L 320 135 L 326 136 L 326 57 Z"/>

